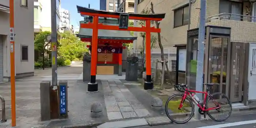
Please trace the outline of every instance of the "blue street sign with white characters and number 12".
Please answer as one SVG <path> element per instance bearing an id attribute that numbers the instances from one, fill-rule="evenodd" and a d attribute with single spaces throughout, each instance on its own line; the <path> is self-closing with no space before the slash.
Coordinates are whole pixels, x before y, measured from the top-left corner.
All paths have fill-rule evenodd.
<path id="1" fill-rule="evenodd" d="M 66 91 L 66 86 L 60 85 L 60 114 L 67 113 Z"/>

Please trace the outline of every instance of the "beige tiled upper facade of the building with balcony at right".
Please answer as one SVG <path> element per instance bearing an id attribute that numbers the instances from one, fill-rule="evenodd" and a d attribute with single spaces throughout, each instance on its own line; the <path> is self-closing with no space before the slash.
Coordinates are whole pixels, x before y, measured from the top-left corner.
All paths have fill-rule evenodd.
<path id="1" fill-rule="evenodd" d="M 194 1 L 194 0 L 192 0 Z M 188 5 L 189 0 L 164 0 L 150 1 L 139 0 L 138 13 L 150 9 L 153 2 L 155 13 L 166 13 L 165 19 L 160 23 L 161 41 L 164 48 L 170 48 L 175 52 L 174 45 L 187 43 L 188 30 Z M 149 3 L 149 4 L 148 4 Z M 255 3 L 248 0 L 207 0 L 206 1 L 206 25 L 231 27 L 231 42 L 255 41 L 253 35 L 256 31 Z M 190 29 L 199 26 L 200 0 L 191 4 Z M 138 37 L 137 48 L 142 44 L 142 38 Z"/>

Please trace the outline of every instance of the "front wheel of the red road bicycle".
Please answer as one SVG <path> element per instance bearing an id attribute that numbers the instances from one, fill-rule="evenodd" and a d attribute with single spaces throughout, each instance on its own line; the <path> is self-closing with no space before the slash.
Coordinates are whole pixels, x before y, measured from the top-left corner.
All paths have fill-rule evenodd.
<path id="1" fill-rule="evenodd" d="M 191 120 L 195 111 L 194 105 L 188 97 L 181 103 L 183 96 L 184 94 L 172 95 L 165 103 L 165 113 L 167 117 L 177 124 L 187 123 Z M 178 109 L 180 104 L 183 104 L 182 108 Z"/>

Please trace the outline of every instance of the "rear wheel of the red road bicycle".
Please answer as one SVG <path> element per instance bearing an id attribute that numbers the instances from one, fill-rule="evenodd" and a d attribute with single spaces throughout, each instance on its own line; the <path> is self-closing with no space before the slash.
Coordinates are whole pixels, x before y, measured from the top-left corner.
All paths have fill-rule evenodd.
<path id="1" fill-rule="evenodd" d="M 219 105 L 221 106 L 221 108 L 207 111 L 207 114 L 212 120 L 221 122 L 221 121 L 227 120 L 227 118 L 229 118 L 229 116 L 231 115 L 231 112 L 232 112 L 231 102 L 229 98 L 223 93 L 211 94 L 211 97 L 209 97 L 206 102 L 206 107 L 213 108 Z M 226 114 L 217 116 L 218 114 L 221 114 L 221 113 L 226 113 Z"/>

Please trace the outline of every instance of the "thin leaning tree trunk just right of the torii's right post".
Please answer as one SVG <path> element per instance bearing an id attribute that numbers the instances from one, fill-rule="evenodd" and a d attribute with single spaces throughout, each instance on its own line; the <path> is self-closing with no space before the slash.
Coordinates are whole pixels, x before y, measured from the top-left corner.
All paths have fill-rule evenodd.
<path id="1" fill-rule="evenodd" d="M 153 14 L 155 14 L 155 11 L 154 11 L 154 5 L 153 5 L 153 3 L 151 2 L 151 12 L 153 13 Z M 158 22 L 158 21 L 155 21 L 155 24 L 156 24 L 156 26 L 157 26 L 157 29 L 159 29 L 159 25 L 160 25 L 160 23 Z M 162 61 L 165 61 L 164 60 L 164 57 L 163 57 L 163 45 L 162 45 L 162 42 L 161 42 L 161 34 L 160 33 L 157 33 L 157 40 L 158 40 L 158 45 L 159 45 L 159 48 L 161 49 L 161 60 Z M 169 61 L 169 60 L 168 60 Z M 165 63 L 165 65 L 163 65 L 163 62 L 162 62 L 162 69 L 164 69 L 163 68 L 163 66 L 166 66 L 166 69 L 167 69 L 167 74 L 168 74 L 168 76 L 169 76 L 169 79 L 170 79 L 170 84 L 172 85 L 173 83 L 172 83 L 172 76 L 171 76 L 171 74 L 170 74 L 170 72 L 169 72 L 169 68 L 168 68 L 168 65 L 167 65 L 167 63 Z M 164 71 L 163 71 L 164 72 Z"/>

